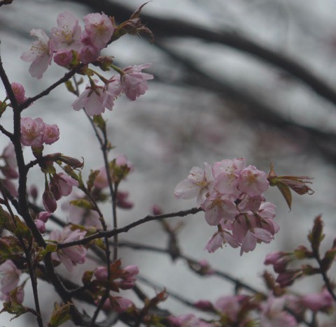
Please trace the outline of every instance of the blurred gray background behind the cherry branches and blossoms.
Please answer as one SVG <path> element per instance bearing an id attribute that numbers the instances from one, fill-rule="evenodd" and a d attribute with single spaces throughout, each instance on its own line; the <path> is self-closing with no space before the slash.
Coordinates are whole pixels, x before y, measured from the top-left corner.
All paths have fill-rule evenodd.
<path id="1" fill-rule="evenodd" d="M 50 34 L 58 13 L 66 10 L 80 21 L 87 13 L 103 10 L 120 22 L 142 3 L 143 0 L 15 0 L 10 6 L 2 6 L 0 50 L 10 82 L 22 83 L 27 96 L 34 96 L 65 72 L 54 64 L 42 80 L 31 78 L 29 64 L 20 60 L 33 41 L 29 36 L 31 29 L 41 28 Z M 111 143 L 116 146 L 111 158 L 125 154 L 135 166 L 134 173 L 120 186 L 121 190 L 130 191 L 134 209 L 120 210 L 119 225 L 148 215 L 154 204 L 164 212 L 194 207 L 195 201 L 174 198 L 174 187 L 186 178 L 192 166 L 246 157 L 248 164 L 261 170 L 268 171 L 273 162 L 279 175 L 314 177 L 315 194 L 294 195 L 293 208 L 288 212 L 279 191 L 267 191 L 267 199 L 277 206 L 276 221 L 281 229 L 270 245 L 258 245 L 254 252 L 243 256 L 239 256 L 239 249 L 230 247 L 214 254 L 204 251 L 214 228 L 207 226 L 202 213 L 169 219 L 172 226 L 183 221 L 178 234 L 181 251 L 197 260 L 207 259 L 215 268 L 263 289 L 259 276 L 264 270 L 265 254 L 307 245 L 307 233 L 318 214 L 323 214 L 325 221 L 325 247 L 330 245 L 336 226 L 335 12 L 336 3 L 331 0 L 148 3 L 142 20 L 155 34 L 155 43 L 150 44 L 148 38 L 126 36 L 104 50 L 104 54 L 116 57 L 120 67 L 150 62 L 148 72 L 155 75 L 145 96 L 136 102 L 120 98 L 113 112 L 104 114 Z M 3 87 L 0 95 L 3 99 Z M 73 94 L 61 85 L 24 114 L 57 124 L 60 139 L 45 147 L 45 153 L 83 157 L 83 175 L 87 176 L 90 168 L 102 166 L 102 154 L 83 112 L 71 108 L 73 101 Z M 1 124 L 11 129 L 10 112 L 1 117 Z M 79 143 L 74 143 L 74 138 Z M 0 136 L 1 149 L 6 144 L 6 138 Z M 27 158 L 30 157 L 27 151 Z M 31 171 L 29 179 L 42 189 L 43 176 L 38 169 Z M 109 215 L 109 207 L 104 210 Z M 67 218 L 60 209 L 56 214 Z M 135 228 L 121 235 L 120 240 L 167 246 L 167 235 L 158 222 Z M 148 296 L 166 286 L 168 292 L 181 293 L 190 301 L 216 300 L 234 289 L 223 279 L 198 277 L 185 262 L 172 262 L 165 254 L 123 248 L 120 257 L 125 265 L 137 264 L 141 276 L 157 285 L 153 288 L 139 282 Z M 76 267 L 75 279 L 86 268 L 90 268 L 90 260 Z M 57 296 L 48 284 L 41 282 L 40 286 L 48 319 Z M 321 286 L 320 279 L 314 283 L 310 279 L 298 282 L 297 290 L 319 291 Z M 25 304 L 34 307 L 29 283 L 26 288 Z M 136 298 L 134 301 L 137 303 Z M 174 298 L 169 298 L 162 308 L 176 315 L 192 311 Z M 29 314 L 10 323 L 9 319 L 1 314 L 0 325 L 35 326 L 34 317 Z"/>

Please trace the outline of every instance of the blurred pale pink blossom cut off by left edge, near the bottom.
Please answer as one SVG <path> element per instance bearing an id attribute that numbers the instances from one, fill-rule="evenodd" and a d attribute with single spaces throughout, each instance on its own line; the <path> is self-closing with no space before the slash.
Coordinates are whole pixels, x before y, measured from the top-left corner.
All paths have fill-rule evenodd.
<path id="1" fill-rule="evenodd" d="M 10 291 L 18 286 L 20 281 L 21 270 L 16 268 L 11 260 L 6 260 L 0 265 L 0 284 L 1 284 L 1 300 L 6 300 Z"/>

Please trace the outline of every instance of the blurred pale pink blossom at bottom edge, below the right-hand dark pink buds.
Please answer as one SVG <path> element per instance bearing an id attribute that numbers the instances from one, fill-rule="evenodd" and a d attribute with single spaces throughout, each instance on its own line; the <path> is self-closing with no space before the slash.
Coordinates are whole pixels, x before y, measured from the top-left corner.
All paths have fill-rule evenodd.
<path id="1" fill-rule="evenodd" d="M 295 327 L 297 321 L 295 318 L 284 310 L 286 298 L 275 298 L 269 294 L 267 303 L 262 305 L 260 315 L 262 327 Z"/>

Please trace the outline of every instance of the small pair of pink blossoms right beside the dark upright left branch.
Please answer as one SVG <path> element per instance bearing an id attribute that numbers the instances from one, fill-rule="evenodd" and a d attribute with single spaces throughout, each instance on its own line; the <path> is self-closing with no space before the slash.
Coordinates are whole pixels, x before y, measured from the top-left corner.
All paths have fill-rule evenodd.
<path id="1" fill-rule="evenodd" d="M 41 147 L 43 143 L 52 144 L 59 139 L 56 124 L 48 125 L 42 118 L 21 118 L 21 143 L 30 147 Z"/>

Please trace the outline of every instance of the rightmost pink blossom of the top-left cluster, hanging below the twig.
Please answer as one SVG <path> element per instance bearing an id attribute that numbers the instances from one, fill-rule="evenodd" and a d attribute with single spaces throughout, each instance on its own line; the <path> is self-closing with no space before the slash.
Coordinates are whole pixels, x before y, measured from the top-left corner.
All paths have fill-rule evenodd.
<path id="1" fill-rule="evenodd" d="M 121 84 L 123 92 L 128 99 L 134 101 L 138 96 L 145 94 L 148 90 L 147 80 L 152 80 L 153 75 L 142 73 L 144 68 L 148 68 L 151 64 L 142 64 L 139 66 L 129 66 L 123 69 L 121 76 Z"/>

